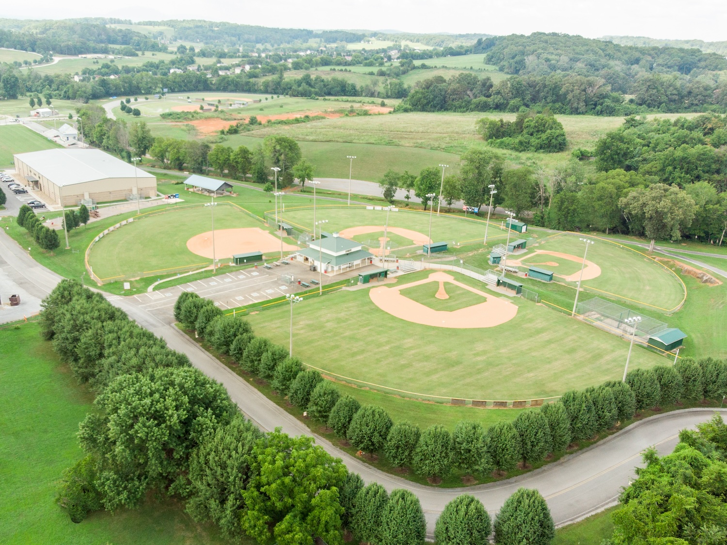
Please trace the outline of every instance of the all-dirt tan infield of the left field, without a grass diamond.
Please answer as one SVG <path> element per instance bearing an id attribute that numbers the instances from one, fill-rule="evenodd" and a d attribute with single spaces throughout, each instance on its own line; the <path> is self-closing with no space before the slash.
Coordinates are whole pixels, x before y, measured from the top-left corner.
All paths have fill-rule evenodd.
<path id="1" fill-rule="evenodd" d="M 190 252 L 212 259 L 212 231 L 193 236 L 187 241 L 187 247 Z M 283 243 L 284 252 L 297 249 L 297 246 Z M 279 251 L 280 239 L 259 227 L 214 231 L 214 257 L 217 259 L 232 258 L 238 253 Z"/>

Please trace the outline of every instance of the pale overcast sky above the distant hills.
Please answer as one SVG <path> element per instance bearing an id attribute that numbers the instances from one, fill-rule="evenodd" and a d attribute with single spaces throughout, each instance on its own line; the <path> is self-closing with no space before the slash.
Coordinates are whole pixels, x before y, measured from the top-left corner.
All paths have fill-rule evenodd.
<path id="1" fill-rule="evenodd" d="M 727 40 L 725 0 L 155 0 L 143 5 L 136 1 L 8 1 L 0 17 L 205 19 L 282 28 L 497 35 L 544 31 L 589 38 L 611 35 Z"/>

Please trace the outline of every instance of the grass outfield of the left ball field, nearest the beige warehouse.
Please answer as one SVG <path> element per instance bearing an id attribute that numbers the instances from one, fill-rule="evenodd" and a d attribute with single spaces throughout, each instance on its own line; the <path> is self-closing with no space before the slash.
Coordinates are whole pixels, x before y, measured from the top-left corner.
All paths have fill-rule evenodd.
<path id="1" fill-rule="evenodd" d="M 262 227 L 233 206 L 214 210 L 216 230 Z M 212 264 L 187 248 L 192 236 L 212 230 L 209 207 L 178 207 L 169 212 L 144 215 L 100 239 L 91 250 L 89 264 L 100 279 L 169 274 L 168 269 L 202 268 Z"/>

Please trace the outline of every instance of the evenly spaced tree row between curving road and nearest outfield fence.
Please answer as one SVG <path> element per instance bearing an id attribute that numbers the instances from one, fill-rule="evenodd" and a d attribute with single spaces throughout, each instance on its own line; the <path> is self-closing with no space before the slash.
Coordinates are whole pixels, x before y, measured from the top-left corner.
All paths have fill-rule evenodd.
<path id="1" fill-rule="evenodd" d="M 497 423 L 486 431 L 473 421 L 460 421 L 451 434 L 441 425 L 421 431 L 413 423 L 393 423 L 382 407 L 361 407 L 353 397 L 341 395 L 318 371 L 304 370 L 288 349 L 254 336 L 248 322 L 223 316 L 212 301 L 196 293 L 182 294 L 174 315 L 354 447 L 384 454 L 393 466 L 411 467 L 433 480 L 454 469 L 465 474 L 495 470 L 502 475 L 518 463 L 527 467 L 548 453 L 563 452 L 571 442 L 593 440 L 638 410 L 681 400 L 718 399 L 727 392 L 727 362 L 684 358 L 673 367 L 632 370 L 625 383 L 608 381 L 568 391 L 558 402 L 521 411 L 513 422 Z"/>

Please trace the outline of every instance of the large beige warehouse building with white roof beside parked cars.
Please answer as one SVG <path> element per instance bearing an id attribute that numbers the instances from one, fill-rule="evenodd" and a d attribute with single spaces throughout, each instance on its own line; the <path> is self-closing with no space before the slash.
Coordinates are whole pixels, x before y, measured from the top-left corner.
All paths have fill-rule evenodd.
<path id="1" fill-rule="evenodd" d="M 156 176 L 98 149 L 49 149 L 15 154 L 15 171 L 46 202 L 75 206 L 156 196 Z M 137 191 L 138 188 L 138 191 Z"/>

